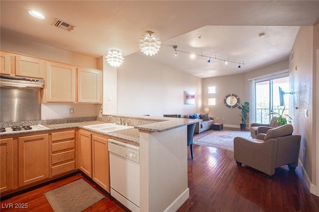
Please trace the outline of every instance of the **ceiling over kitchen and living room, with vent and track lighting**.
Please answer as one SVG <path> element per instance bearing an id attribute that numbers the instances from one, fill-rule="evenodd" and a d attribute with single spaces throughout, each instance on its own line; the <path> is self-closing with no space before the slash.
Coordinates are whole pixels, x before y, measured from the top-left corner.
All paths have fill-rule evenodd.
<path id="1" fill-rule="evenodd" d="M 29 9 L 46 18 L 31 17 Z M 285 60 L 299 26 L 319 23 L 318 0 L 1 0 L 0 12 L 1 33 L 96 58 L 110 49 L 120 50 L 124 57 L 137 53 L 200 78 L 248 72 Z M 56 28 L 51 25 L 55 18 L 76 28 Z M 157 55 L 139 50 L 146 30 L 162 41 Z M 175 57 L 173 45 L 207 57 L 190 59 L 182 52 Z M 225 65 L 215 57 L 236 63 Z"/>

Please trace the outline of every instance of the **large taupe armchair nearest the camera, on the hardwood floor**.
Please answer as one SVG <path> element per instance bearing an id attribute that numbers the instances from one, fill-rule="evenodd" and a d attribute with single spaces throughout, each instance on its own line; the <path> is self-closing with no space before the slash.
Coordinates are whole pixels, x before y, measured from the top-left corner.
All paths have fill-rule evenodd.
<path id="1" fill-rule="evenodd" d="M 301 135 L 293 135 L 293 125 L 286 124 L 258 134 L 257 139 L 234 138 L 234 159 L 266 173 L 275 174 L 275 168 L 288 165 L 290 170 L 298 166 Z"/>

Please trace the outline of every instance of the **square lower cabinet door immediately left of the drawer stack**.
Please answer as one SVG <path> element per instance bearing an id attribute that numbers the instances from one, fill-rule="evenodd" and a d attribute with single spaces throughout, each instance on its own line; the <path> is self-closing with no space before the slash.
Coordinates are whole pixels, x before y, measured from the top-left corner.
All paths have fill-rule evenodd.
<path id="1" fill-rule="evenodd" d="M 49 177 L 48 134 L 18 138 L 18 186 Z"/>

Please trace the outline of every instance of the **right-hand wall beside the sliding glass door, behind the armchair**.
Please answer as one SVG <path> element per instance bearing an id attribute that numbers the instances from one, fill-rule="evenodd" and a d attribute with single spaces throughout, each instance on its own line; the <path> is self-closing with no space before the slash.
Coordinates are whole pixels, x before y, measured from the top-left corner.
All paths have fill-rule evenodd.
<path id="1" fill-rule="evenodd" d="M 295 108 L 290 112 L 295 126 L 294 133 L 302 135 L 300 161 L 307 172 L 304 176 L 306 181 L 309 177 L 311 182 L 315 182 L 315 140 L 313 140 L 313 27 L 302 26 L 297 34 L 294 47 L 294 58 L 290 60 L 290 79 L 292 81 L 292 101 L 290 108 Z M 297 69 L 297 70 L 296 70 Z M 308 117 L 305 116 L 308 110 Z M 305 154 L 304 149 L 305 148 Z M 307 176 L 308 175 L 308 176 Z"/>

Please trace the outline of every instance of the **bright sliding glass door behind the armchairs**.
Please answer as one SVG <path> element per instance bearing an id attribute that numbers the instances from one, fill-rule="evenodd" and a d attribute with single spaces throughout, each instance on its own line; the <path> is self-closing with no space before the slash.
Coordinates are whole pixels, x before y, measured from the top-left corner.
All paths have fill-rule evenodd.
<path id="1" fill-rule="evenodd" d="M 255 122 L 269 123 L 272 111 L 289 114 L 289 77 L 255 81 Z"/>

